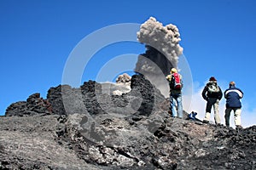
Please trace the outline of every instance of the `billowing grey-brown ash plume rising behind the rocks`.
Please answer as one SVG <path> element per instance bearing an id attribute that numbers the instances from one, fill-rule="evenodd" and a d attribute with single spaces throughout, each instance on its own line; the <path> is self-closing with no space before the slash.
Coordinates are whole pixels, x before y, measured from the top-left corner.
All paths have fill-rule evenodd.
<path id="1" fill-rule="evenodd" d="M 181 38 L 177 26 L 163 26 L 150 17 L 137 32 L 137 40 L 145 44 L 146 53 L 138 56 L 134 71 L 147 77 L 167 96 L 169 88 L 166 75 L 172 67 L 177 68 L 178 57 L 183 54 L 183 48 L 178 44 Z"/>

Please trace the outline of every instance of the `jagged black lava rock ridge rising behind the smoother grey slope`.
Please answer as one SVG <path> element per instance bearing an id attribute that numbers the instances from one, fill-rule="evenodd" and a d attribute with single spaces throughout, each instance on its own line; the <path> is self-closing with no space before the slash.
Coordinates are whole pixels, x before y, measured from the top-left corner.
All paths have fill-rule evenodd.
<path id="1" fill-rule="evenodd" d="M 84 82 L 80 88 L 59 85 L 49 88 L 47 99 L 40 98 L 40 94 L 32 94 L 26 101 L 10 105 L 5 115 L 25 116 L 30 113 L 29 111 L 33 111 L 34 115 L 41 113 L 97 115 L 106 114 L 108 111 L 120 114 L 120 111 L 124 112 L 122 111 L 124 108 L 130 112 L 137 111 L 141 115 L 148 115 L 154 107 L 157 107 L 156 104 L 165 100 L 160 91 L 142 75 L 134 75 L 130 83 L 131 92 L 122 95 L 103 94 L 102 84 L 95 81 Z M 109 88 L 115 87 L 109 86 Z M 63 102 L 63 99 L 66 102 Z M 140 108 L 137 110 L 139 105 Z"/>

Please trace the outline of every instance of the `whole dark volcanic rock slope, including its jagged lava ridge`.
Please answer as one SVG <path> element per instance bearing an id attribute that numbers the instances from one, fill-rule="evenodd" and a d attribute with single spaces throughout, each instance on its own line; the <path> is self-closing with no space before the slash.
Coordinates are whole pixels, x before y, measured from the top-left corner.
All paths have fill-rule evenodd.
<path id="1" fill-rule="evenodd" d="M 141 75 L 122 95 L 93 81 L 32 94 L 0 117 L 0 169 L 256 168 L 256 126 L 201 124 L 167 109 Z"/>

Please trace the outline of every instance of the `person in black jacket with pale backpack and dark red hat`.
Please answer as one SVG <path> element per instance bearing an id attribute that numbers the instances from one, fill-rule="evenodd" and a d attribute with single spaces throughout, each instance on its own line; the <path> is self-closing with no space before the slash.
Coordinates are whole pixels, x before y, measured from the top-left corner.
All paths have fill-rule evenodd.
<path id="1" fill-rule="evenodd" d="M 210 77 L 209 82 L 203 89 L 201 95 L 203 99 L 207 100 L 206 115 L 205 118 L 203 119 L 203 122 L 209 122 L 213 105 L 215 124 L 220 125 L 218 103 L 219 100 L 222 99 L 223 94 L 221 88 L 219 88 L 217 84 L 217 80 L 215 77 Z"/>

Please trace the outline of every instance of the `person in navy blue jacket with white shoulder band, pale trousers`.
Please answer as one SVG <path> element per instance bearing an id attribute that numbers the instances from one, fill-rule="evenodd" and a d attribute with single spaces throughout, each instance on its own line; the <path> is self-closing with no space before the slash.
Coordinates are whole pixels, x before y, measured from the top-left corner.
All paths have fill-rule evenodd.
<path id="1" fill-rule="evenodd" d="M 226 99 L 225 123 L 230 127 L 230 113 L 234 111 L 234 120 L 237 128 L 241 128 L 241 101 L 243 93 L 241 89 L 236 88 L 235 82 L 230 82 L 230 88 L 224 91 L 224 98 Z"/>

